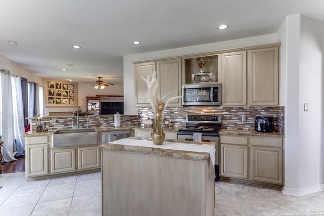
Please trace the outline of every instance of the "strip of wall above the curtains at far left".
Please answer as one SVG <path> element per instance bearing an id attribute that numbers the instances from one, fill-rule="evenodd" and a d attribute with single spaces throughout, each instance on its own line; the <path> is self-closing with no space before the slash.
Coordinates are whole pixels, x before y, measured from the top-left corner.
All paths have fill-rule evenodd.
<path id="1" fill-rule="evenodd" d="M 0 69 L 10 70 L 11 73 L 20 75 L 28 79 L 29 82 L 36 82 L 42 84 L 42 77 L 35 75 L 26 68 L 17 64 L 16 62 L 11 61 L 7 57 L 0 54 Z"/>

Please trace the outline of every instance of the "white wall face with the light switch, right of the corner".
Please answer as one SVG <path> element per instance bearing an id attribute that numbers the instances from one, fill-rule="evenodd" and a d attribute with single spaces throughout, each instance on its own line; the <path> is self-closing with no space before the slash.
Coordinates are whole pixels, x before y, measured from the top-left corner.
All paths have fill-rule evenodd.
<path id="1" fill-rule="evenodd" d="M 322 122 L 323 122 L 323 52 L 324 21 L 301 16 L 300 24 L 300 107 L 308 103 L 309 110 L 299 109 L 299 188 L 317 191 L 322 182 Z"/>

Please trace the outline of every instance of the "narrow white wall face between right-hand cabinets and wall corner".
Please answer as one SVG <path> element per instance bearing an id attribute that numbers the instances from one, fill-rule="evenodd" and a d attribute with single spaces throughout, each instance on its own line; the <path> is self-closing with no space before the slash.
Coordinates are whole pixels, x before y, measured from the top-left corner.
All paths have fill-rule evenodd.
<path id="1" fill-rule="evenodd" d="M 298 189 L 299 152 L 299 32 L 300 15 L 282 23 L 278 38 L 280 53 L 280 101 L 285 109 L 285 190 Z M 297 46 L 298 45 L 298 46 Z M 284 80 L 282 80 L 284 79 Z"/>

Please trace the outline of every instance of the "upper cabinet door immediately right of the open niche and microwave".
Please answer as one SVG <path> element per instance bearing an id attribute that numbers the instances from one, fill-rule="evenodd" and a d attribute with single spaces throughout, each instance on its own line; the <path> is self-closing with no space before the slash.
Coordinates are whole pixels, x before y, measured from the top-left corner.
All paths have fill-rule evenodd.
<path id="1" fill-rule="evenodd" d="M 247 105 L 246 51 L 221 54 L 219 61 L 222 105 Z"/>

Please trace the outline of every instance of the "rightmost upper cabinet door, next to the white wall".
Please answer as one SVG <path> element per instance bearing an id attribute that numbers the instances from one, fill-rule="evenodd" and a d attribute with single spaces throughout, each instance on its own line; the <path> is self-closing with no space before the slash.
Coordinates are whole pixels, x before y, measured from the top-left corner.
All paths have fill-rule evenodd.
<path id="1" fill-rule="evenodd" d="M 279 105 L 278 47 L 248 51 L 248 86 L 248 105 Z"/>

